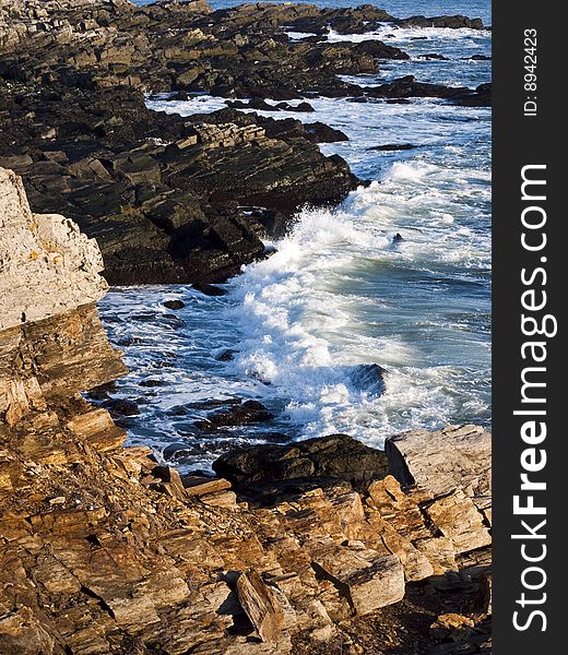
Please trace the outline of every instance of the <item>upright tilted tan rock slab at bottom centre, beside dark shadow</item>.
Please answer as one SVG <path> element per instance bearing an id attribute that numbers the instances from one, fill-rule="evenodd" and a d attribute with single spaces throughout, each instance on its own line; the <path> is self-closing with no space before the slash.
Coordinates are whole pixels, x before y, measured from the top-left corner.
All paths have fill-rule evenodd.
<path id="1" fill-rule="evenodd" d="M 263 642 L 277 642 L 284 612 L 274 592 L 256 571 L 241 573 L 237 580 L 239 603 Z"/>

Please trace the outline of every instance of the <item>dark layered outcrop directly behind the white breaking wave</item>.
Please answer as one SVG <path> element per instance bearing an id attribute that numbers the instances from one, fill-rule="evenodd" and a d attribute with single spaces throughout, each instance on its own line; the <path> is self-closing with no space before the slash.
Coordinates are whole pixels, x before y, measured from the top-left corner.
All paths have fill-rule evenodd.
<path id="1" fill-rule="evenodd" d="M 182 119 L 128 88 L 28 96 L 16 85 L 0 107 L 0 164 L 23 176 L 34 210 L 61 211 L 97 239 L 111 284 L 226 279 L 263 255 L 260 234 L 357 183 L 298 121 Z"/>

